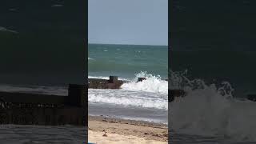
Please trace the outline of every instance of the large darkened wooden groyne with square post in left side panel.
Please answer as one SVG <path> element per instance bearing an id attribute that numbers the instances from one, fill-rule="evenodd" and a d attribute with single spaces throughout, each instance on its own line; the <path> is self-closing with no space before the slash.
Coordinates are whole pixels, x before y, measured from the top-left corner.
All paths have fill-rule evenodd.
<path id="1" fill-rule="evenodd" d="M 68 96 L 0 92 L 0 124 L 87 126 L 87 99 L 72 84 Z"/>

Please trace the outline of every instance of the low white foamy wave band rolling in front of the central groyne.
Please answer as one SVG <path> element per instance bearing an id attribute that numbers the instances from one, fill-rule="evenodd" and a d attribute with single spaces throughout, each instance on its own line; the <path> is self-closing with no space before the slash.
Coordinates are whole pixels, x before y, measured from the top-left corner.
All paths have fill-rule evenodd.
<path id="1" fill-rule="evenodd" d="M 88 101 L 168 110 L 167 95 L 128 90 L 88 90 Z"/>

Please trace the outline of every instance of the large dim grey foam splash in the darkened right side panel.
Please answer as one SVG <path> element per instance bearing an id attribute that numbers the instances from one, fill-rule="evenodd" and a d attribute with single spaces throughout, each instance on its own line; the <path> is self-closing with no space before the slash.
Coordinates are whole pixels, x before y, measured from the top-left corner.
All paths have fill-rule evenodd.
<path id="1" fill-rule="evenodd" d="M 229 82 L 216 86 L 202 79 L 190 80 L 181 73 L 171 77 L 178 80 L 174 87 L 182 86 L 187 93 L 170 103 L 170 126 L 177 133 L 256 140 L 256 103 L 234 98 Z"/>

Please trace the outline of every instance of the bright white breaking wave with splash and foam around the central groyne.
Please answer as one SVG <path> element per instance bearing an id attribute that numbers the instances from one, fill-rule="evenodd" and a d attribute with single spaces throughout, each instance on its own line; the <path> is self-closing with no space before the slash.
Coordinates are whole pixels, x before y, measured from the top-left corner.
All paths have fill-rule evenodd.
<path id="1" fill-rule="evenodd" d="M 140 77 L 146 80 L 137 82 Z M 89 78 L 108 79 L 108 77 Z M 135 78 L 123 84 L 120 90 L 89 89 L 88 94 L 89 102 L 168 110 L 168 82 L 162 80 L 160 76 L 146 72 L 135 74 Z"/>

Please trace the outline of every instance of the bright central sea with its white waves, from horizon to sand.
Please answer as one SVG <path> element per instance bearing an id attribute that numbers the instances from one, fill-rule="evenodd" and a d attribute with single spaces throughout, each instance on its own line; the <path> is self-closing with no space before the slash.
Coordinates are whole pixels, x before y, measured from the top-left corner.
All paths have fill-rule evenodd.
<path id="1" fill-rule="evenodd" d="M 89 44 L 88 78 L 110 75 L 129 82 L 119 90 L 89 89 L 90 115 L 168 123 L 168 46 Z"/>

